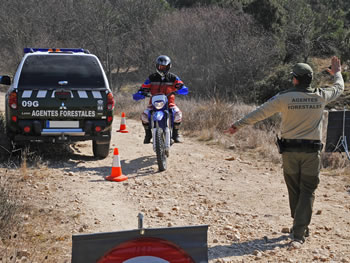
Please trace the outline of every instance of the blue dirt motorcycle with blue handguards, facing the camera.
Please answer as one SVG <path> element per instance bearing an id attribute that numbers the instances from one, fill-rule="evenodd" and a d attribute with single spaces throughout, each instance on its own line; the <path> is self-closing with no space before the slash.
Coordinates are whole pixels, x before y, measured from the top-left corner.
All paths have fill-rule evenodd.
<path id="1" fill-rule="evenodd" d="M 172 132 L 174 125 L 174 114 L 168 105 L 168 96 L 172 94 L 187 95 L 188 88 L 182 86 L 180 89 L 168 95 L 156 94 L 151 98 L 152 109 L 148 114 L 149 123 L 153 136 L 153 150 L 157 155 L 159 171 L 167 169 L 167 158 L 169 157 L 170 146 L 172 145 Z M 149 93 L 138 91 L 133 94 L 135 101 L 151 97 Z"/>

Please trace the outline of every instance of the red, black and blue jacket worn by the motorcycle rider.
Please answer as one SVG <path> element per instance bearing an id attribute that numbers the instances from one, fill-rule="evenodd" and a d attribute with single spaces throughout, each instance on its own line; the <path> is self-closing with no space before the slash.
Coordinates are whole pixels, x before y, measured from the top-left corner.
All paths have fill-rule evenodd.
<path id="1" fill-rule="evenodd" d="M 142 84 L 141 88 L 149 89 L 152 95 L 164 94 L 168 95 L 170 92 L 176 91 L 175 85 L 183 84 L 182 80 L 173 73 L 168 72 L 164 77 L 158 73 L 153 73 Z M 175 95 L 168 97 L 169 107 L 175 106 Z"/>

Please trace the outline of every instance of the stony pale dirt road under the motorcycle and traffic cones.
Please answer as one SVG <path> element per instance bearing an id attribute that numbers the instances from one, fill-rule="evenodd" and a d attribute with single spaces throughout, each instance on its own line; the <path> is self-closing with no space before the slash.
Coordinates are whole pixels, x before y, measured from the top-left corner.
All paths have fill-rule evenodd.
<path id="1" fill-rule="evenodd" d="M 59 149 L 39 167 L 5 169 L 20 176 L 25 203 L 18 239 L 32 262 L 70 262 L 71 235 L 144 227 L 209 225 L 209 262 L 350 262 L 349 180 L 323 173 L 314 204 L 311 236 L 296 251 L 280 165 L 185 138 L 171 148 L 168 169 L 158 172 L 138 121 L 115 132 L 111 154 L 94 160 L 91 143 Z M 109 182 L 113 148 L 119 149 L 124 182 Z M 232 160 L 226 160 L 232 159 Z"/>

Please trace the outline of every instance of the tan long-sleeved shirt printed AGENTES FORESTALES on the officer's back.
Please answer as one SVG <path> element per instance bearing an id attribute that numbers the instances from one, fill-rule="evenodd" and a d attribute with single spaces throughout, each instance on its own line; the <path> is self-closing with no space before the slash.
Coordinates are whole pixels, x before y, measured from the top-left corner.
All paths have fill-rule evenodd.
<path id="1" fill-rule="evenodd" d="M 296 86 L 262 104 L 236 121 L 238 129 L 264 120 L 275 113 L 282 114 L 281 137 L 284 139 L 321 140 L 325 106 L 344 91 L 341 72 L 334 74 L 334 84 L 327 88 Z"/>

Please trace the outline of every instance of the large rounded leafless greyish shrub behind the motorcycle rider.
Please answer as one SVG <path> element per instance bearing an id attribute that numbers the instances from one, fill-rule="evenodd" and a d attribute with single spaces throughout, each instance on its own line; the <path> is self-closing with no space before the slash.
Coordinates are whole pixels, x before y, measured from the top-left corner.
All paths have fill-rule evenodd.
<path id="1" fill-rule="evenodd" d="M 253 99 L 254 81 L 276 63 L 274 40 L 234 9 L 182 9 L 160 19 L 149 40 L 154 57 L 169 55 L 193 96 Z"/>

